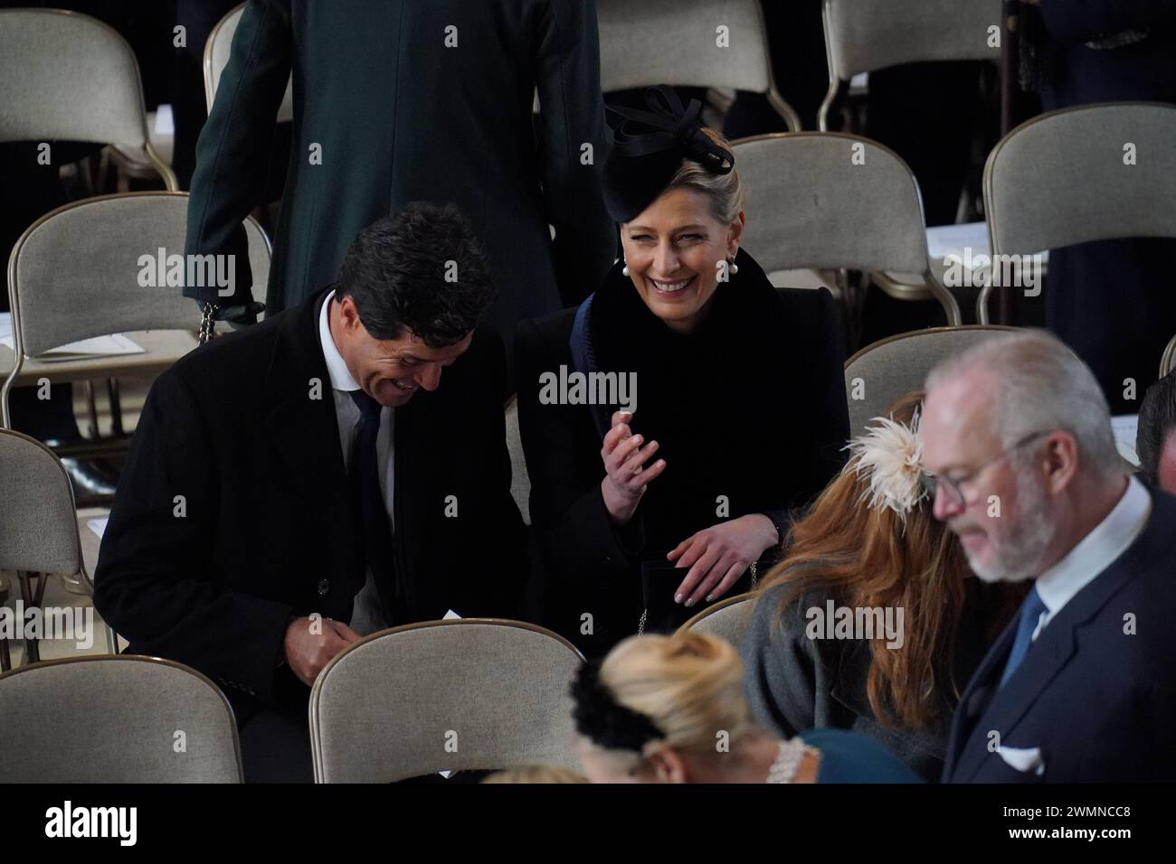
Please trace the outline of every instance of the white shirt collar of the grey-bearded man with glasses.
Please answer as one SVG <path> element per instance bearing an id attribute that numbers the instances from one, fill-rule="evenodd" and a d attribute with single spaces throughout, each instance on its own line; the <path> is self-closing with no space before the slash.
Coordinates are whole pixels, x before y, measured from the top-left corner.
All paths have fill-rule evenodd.
<path id="1" fill-rule="evenodd" d="M 1037 594 L 1049 617 L 1127 551 L 1148 523 L 1150 513 L 1151 496 L 1143 483 L 1129 477 L 1127 491 L 1107 518 L 1037 577 Z"/>

